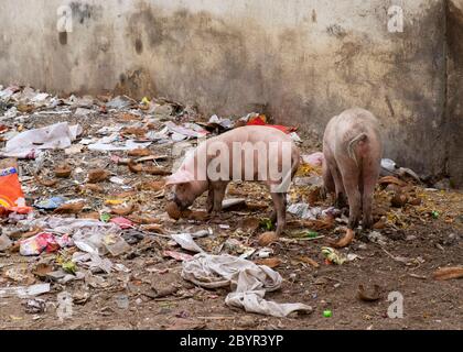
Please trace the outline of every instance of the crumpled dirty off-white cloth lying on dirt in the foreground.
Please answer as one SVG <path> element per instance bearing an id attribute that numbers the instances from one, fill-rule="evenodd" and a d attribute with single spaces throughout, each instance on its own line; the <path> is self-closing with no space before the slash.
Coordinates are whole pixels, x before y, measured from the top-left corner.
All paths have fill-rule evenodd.
<path id="1" fill-rule="evenodd" d="M 182 277 L 206 288 L 230 286 L 225 304 L 273 317 L 287 317 L 293 311 L 311 312 L 304 304 L 278 304 L 263 299 L 267 292 L 280 288 L 282 277 L 266 265 L 233 256 L 196 254 L 183 262 Z"/>

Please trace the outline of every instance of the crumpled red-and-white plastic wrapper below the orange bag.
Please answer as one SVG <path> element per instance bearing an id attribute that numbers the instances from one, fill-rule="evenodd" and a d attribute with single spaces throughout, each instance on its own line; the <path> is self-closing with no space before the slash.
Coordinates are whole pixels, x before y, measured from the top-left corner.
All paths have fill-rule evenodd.
<path id="1" fill-rule="evenodd" d="M 73 240 L 69 235 L 62 237 L 54 235 L 53 233 L 39 233 L 30 239 L 20 242 L 21 255 L 40 255 L 42 252 L 53 253 L 57 250 L 73 245 Z"/>

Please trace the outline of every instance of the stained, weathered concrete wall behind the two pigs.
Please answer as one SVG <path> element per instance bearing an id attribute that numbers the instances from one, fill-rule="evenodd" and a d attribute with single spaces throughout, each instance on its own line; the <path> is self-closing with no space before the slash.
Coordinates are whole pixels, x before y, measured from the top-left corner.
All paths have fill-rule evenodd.
<path id="1" fill-rule="evenodd" d="M 66 3 L 67 35 L 56 31 Z M 387 30 L 391 4 L 402 33 Z M 0 82 L 259 110 L 320 135 L 359 106 L 384 122 L 386 156 L 461 182 L 461 108 L 446 92 L 462 63 L 450 55 L 460 81 L 448 85 L 448 18 L 444 0 L 2 0 Z"/>

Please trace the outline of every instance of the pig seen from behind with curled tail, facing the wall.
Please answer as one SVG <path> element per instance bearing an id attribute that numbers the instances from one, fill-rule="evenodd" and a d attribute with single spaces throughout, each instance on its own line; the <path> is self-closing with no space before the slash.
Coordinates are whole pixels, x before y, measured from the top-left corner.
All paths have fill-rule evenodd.
<path id="1" fill-rule="evenodd" d="M 348 228 L 357 227 L 362 212 L 363 228 L 370 228 L 373 194 L 383 155 L 378 120 L 359 108 L 334 117 L 323 136 L 323 155 L 325 190 L 335 194 L 336 207 L 342 207 L 347 197 Z"/>

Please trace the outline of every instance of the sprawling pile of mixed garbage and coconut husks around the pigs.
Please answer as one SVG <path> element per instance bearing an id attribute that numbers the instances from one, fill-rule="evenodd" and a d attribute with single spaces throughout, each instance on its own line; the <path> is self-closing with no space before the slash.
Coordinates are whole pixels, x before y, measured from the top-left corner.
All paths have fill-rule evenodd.
<path id="1" fill-rule="evenodd" d="M 269 195 L 258 184 L 230 184 L 218 219 L 203 210 L 204 197 L 189 219 L 174 220 L 165 211 L 163 179 L 185 151 L 198 139 L 246 124 L 271 125 L 259 113 L 204 118 L 166 99 L 58 98 L 0 86 L 0 297 L 32 299 L 28 309 L 36 314 L 43 307 L 35 297 L 54 287 L 83 283 L 86 290 L 76 290 L 73 300 L 85 304 L 91 289 L 140 279 L 162 271 L 160 265 L 181 270 L 196 287 L 229 288 L 226 304 L 233 307 L 276 317 L 310 312 L 308 305 L 263 296 L 283 280 L 273 271 L 282 263 L 277 242 L 306 245 L 342 233 L 347 223 L 345 209 L 322 197 L 320 151 L 302 155 L 281 239 L 271 234 Z M 302 141 L 295 128 L 271 127 Z M 381 166 L 386 174 L 375 195 L 372 242 L 387 248 L 380 232 L 406 229 L 413 218 L 454 220 L 432 204 L 435 191 L 421 187 L 412 170 L 390 160 Z M 348 265 L 360 260 L 347 251 L 322 245 L 319 261 Z M 15 256 L 21 264 L 11 260 Z M 133 273 L 138 258 L 150 264 Z M 301 261 L 321 265 L 317 258 Z M 189 296 L 186 290 L 171 287 L 160 295 L 151 287 L 143 297 Z"/>

